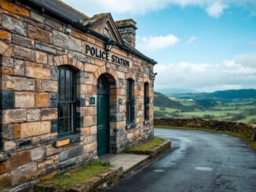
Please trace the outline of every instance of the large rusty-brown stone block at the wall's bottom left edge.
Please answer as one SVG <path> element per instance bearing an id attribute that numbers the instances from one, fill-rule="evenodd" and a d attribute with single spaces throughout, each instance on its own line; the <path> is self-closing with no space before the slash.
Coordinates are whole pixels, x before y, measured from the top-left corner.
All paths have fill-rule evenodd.
<path id="1" fill-rule="evenodd" d="M 30 153 L 27 150 L 12 154 L 7 161 L 0 162 L 0 174 L 9 172 L 14 168 L 24 165 L 30 161 Z"/>

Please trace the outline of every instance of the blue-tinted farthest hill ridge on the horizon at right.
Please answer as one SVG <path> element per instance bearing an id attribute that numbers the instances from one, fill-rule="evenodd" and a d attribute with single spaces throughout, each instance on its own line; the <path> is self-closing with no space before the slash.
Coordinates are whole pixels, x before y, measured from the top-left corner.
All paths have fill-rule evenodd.
<path id="1" fill-rule="evenodd" d="M 235 100 L 235 99 L 255 99 L 256 89 L 238 89 L 238 90 L 225 90 L 217 92 L 201 92 L 201 93 L 187 93 L 177 94 L 180 99 L 222 99 L 222 100 Z"/>

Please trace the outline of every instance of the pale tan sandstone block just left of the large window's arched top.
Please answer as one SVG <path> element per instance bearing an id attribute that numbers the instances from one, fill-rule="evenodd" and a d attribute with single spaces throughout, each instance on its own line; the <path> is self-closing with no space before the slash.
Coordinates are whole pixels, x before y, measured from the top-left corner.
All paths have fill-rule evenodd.
<path id="1" fill-rule="evenodd" d="M 50 79 L 51 69 L 48 65 L 26 62 L 25 75 L 29 78 Z"/>

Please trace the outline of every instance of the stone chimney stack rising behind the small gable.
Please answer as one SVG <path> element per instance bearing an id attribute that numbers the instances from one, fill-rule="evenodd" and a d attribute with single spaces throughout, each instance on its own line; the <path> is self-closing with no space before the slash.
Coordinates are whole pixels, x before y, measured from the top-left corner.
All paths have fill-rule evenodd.
<path id="1" fill-rule="evenodd" d="M 119 29 L 122 38 L 134 48 L 136 46 L 136 24 L 133 19 L 115 21 L 115 25 Z"/>

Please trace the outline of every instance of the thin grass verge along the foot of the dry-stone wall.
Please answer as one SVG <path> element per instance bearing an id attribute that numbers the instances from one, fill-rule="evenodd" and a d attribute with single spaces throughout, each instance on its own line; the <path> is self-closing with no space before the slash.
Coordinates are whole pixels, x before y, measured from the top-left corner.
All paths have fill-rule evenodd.
<path id="1" fill-rule="evenodd" d="M 206 132 L 223 133 L 223 134 L 227 134 L 229 136 L 236 136 L 240 139 L 247 141 L 249 147 L 251 147 L 251 149 L 253 149 L 253 150 L 256 150 L 256 141 L 251 141 L 251 139 L 247 138 L 247 136 L 243 135 L 242 132 L 229 132 L 229 131 L 221 131 L 221 130 L 214 130 L 214 129 L 207 129 L 207 128 L 172 127 L 172 126 L 166 126 L 166 125 L 163 125 L 163 126 L 157 125 L 157 126 L 155 126 L 155 128 L 187 129 L 187 130 L 199 130 L 199 131 L 206 131 Z"/>

